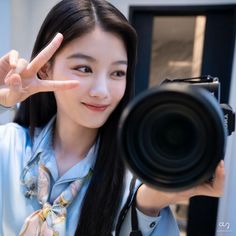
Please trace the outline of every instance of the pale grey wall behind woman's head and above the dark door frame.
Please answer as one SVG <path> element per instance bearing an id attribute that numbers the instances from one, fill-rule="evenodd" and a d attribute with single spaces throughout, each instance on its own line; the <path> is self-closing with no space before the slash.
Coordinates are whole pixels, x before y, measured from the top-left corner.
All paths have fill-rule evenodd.
<path id="1" fill-rule="evenodd" d="M 0 2 L 2 1 L 11 1 L 11 47 L 19 50 L 21 55 L 28 59 L 43 19 L 51 7 L 59 0 L 1 0 Z M 130 5 L 227 4 L 236 3 L 236 0 L 110 0 L 109 2 L 128 17 Z"/>

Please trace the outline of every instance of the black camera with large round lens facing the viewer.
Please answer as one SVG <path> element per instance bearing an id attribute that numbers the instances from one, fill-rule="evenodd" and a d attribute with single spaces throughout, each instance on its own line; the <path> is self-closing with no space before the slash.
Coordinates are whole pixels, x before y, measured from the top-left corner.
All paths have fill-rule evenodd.
<path id="1" fill-rule="evenodd" d="M 165 80 L 128 104 L 118 143 L 128 168 L 144 183 L 181 191 L 213 176 L 234 127 L 231 107 L 220 104 L 218 78 Z"/>

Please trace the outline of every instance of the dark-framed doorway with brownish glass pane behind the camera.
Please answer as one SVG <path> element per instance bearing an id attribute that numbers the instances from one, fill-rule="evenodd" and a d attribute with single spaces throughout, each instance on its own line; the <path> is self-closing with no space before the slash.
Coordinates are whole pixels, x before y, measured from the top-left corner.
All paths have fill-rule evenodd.
<path id="1" fill-rule="evenodd" d="M 136 94 L 166 78 L 212 75 L 221 82 L 221 102 L 228 102 L 236 4 L 131 6 L 129 21 L 139 38 Z M 215 235 L 217 207 L 208 197 L 173 206 L 181 235 Z"/>

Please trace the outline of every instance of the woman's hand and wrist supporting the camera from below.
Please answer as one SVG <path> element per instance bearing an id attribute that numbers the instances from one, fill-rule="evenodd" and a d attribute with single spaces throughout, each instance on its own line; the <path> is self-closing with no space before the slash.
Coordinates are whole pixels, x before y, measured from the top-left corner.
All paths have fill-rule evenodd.
<path id="1" fill-rule="evenodd" d="M 162 192 L 143 184 L 136 197 L 137 208 L 146 215 L 157 216 L 160 209 L 189 200 L 193 196 L 220 197 L 224 191 L 224 161 L 220 161 L 216 168 L 213 181 L 181 192 Z"/>

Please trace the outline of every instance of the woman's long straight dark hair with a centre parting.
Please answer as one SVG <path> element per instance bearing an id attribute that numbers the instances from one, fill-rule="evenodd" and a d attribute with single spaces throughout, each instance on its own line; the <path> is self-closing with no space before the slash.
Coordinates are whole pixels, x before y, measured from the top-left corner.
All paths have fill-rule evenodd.
<path id="1" fill-rule="evenodd" d="M 99 129 L 100 145 L 94 175 L 83 201 L 76 230 L 76 235 L 80 236 L 111 235 L 121 202 L 124 165 L 117 147 L 116 133 L 120 114 L 133 96 L 136 33 L 120 11 L 106 1 L 63 0 L 48 13 L 32 52 L 34 58 L 57 32 L 64 36 L 61 49 L 97 25 L 123 40 L 128 55 L 127 84 L 121 102 Z M 33 137 L 35 127 L 44 126 L 56 111 L 54 93 L 38 93 L 21 103 L 15 122 L 28 127 Z"/>

